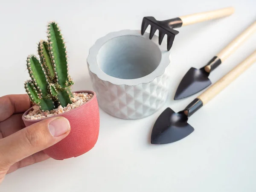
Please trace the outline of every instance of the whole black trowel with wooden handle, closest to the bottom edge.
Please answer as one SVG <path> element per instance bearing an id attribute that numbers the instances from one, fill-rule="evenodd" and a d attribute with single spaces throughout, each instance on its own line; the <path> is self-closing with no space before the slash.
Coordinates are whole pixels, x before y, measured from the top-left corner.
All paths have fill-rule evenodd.
<path id="1" fill-rule="evenodd" d="M 183 111 L 175 113 L 171 108 L 166 108 L 157 118 L 152 133 L 152 144 L 172 143 L 187 137 L 194 131 L 194 128 L 188 124 L 188 118 L 198 111 L 203 105 L 206 105 L 214 96 L 227 87 L 241 73 L 256 62 L 256 51 L 248 56 L 243 62 L 237 65 L 227 75 L 223 76 L 209 89 L 194 99 Z"/>

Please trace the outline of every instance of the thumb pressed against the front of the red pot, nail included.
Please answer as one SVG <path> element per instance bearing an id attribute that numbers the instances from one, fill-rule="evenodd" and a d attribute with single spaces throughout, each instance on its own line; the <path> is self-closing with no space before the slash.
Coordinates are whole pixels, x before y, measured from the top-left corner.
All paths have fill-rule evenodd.
<path id="1" fill-rule="evenodd" d="M 0 160 L 11 166 L 58 143 L 69 133 L 70 123 L 66 118 L 59 116 L 44 119 L 1 139 Z"/>

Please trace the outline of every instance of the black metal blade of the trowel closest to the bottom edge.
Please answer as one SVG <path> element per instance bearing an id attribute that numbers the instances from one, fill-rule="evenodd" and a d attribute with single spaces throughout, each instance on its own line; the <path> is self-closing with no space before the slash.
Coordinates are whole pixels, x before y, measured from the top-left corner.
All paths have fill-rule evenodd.
<path id="1" fill-rule="evenodd" d="M 184 113 L 166 108 L 157 118 L 151 133 L 151 144 L 166 144 L 181 140 L 194 131 Z"/>

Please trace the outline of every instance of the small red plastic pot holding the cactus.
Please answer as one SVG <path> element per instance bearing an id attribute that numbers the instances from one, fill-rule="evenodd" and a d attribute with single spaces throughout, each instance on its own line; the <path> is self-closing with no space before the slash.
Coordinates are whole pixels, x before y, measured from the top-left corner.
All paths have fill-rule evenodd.
<path id="1" fill-rule="evenodd" d="M 64 160 L 84 154 L 87 151 L 90 151 L 98 140 L 99 106 L 96 93 L 88 90 L 75 91 L 74 93 L 92 93 L 93 97 L 78 108 L 56 115 L 67 118 L 71 126 L 70 134 L 67 137 L 44 150 L 49 157 L 56 160 Z M 32 108 L 27 110 L 22 116 L 26 127 L 43 120 L 25 119 L 24 116 L 31 110 Z"/>

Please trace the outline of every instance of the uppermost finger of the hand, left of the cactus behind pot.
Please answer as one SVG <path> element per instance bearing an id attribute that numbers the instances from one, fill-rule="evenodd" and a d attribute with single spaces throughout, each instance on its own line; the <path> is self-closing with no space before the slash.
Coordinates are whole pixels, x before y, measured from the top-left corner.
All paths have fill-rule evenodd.
<path id="1" fill-rule="evenodd" d="M 23 113 L 32 107 L 27 94 L 0 97 L 0 122 L 15 113 Z"/>

